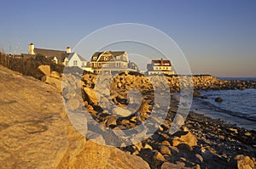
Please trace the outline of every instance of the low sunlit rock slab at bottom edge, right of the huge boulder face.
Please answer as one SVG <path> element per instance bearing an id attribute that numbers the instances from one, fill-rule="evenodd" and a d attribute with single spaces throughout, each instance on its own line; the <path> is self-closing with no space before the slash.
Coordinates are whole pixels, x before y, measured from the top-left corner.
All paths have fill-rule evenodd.
<path id="1" fill-rule="evenodd" d="M 59 168 L 69 167 L 62 165 Z M 125 153 L 117 148 L 96 144 L 89 140 L 86 142 L 84 149 L 77 155 L 73 162 L 73 168 L 148 169 L 149 166 L 141 157 Z"/>

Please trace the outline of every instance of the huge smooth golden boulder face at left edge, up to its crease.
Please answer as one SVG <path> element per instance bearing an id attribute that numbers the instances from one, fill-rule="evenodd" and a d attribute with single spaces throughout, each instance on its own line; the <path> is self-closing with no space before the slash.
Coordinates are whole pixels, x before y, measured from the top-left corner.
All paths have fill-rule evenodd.
<path id="1" fill-rule="evenodd" d="M 67 153 L 60 93 L 44 82 L 0 66 L 0 164 L 55 168 Z"/>

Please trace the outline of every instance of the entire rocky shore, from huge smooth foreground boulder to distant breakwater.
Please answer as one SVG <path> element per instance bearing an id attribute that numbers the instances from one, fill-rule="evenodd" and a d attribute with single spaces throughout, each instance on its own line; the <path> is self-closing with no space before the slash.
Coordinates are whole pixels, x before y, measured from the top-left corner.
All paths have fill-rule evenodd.
<path id="1" fill-rule="evenodd" d="M 187 117 L 179 114 L 178 120 L 173 121 L 179 99 L 172 94 L 171 102 L 165 105 L 167 114 L 161 104 L 155 104 L 157 91 L 150 82 L 159 82 L 160 95 L 177 92 L 179 82 L 170 77 L 153 76 L 152 80 L 123 74 L 110 82 L 108 76 L 96 79 L 93 74 L 84 74 L 81 79 L 79 73 L 61 77 L 48 72 L 44 79 L 47 83 L 60 87 L 55 83 L 62 82 L 61 98 L 55 87 L 3 66 L 0 66 L 0 76 L 1 95 L 4 96 L 0 98 L 0 162 L 3 168 L 255 168 L 255 131 L 192 111 Z M 212 76 L 196 78 L 201 79 L 194 82 L 199 88 L 207 87 L 208 78 L 212 79 L 211 85 L 218 82 Z M 165 87 L 166 82 L 173 90 Z M 254 84 L 246 82 L 242 87 Z M 133 88 L 137 89 L 133 94 L 141 95 L 136 95 L 131 104 L 128 91 Z M 159 119 L 153 116 L 153 107 L 159 115 L 166 115 L 161 125 L 156 125 Z M 84 139 L 67 119 L 67 110 L 73 115 L 89 113 L 91 120 L 79 118 L 85 125 L 96 121 L 109 130 L 132 129 L 147 135 L 135 127 L 149 121 L 144 131 L 148 132 L 150 127 L 157 127 L 157 130 L 142 142 L 125 146 L 124 140 L 110 138 L 102 127 L 95 130 L 88 126 L 84 129 Z M 171 134 L 170 127 L 174 123 L 180 128 Z M 116 134 L 111 132 L 113 138 Z M 119 145 L 119 149 L 104 144 Z"/>

